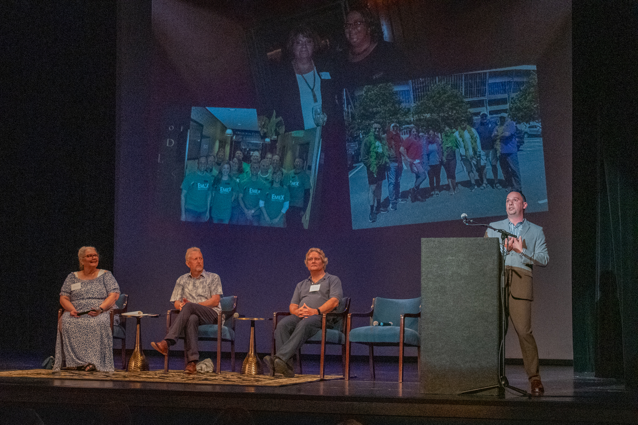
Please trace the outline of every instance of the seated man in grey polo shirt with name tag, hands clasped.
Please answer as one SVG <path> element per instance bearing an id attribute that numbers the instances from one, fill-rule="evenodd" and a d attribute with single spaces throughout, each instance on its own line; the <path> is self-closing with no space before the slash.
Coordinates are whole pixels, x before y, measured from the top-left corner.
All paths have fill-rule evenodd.
<path id="1" fill-rule="evenodd" d="M 292 378 L 292 356 L 308 338 L 322 327 L 322 314 L 329 313 L 343 298 L 341 280 L 325 272 L 328 259 L 323 251 L 311 248 L 306 253 L 306 267 L 310 277 L 297 284 L 290 300 L 290 315 L 284 317 L 275 329 L 274 357 L 265 356 L 263 361 L 271 371 Z"/>

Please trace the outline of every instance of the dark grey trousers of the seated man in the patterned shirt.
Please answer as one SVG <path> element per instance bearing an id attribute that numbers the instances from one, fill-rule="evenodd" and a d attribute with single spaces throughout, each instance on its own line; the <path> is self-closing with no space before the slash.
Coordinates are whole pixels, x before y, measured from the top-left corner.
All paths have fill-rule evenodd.
<path id="1" fill-rule="evenodd" d="M 210 307 L 198 303 L 186 303 L 170 325 L 165 340 L 177 342 L 184 335 L 184 351 L 186 361 L 198 361 L 197 328 L 200 325 L 217 323 L 218 314 Z"/>

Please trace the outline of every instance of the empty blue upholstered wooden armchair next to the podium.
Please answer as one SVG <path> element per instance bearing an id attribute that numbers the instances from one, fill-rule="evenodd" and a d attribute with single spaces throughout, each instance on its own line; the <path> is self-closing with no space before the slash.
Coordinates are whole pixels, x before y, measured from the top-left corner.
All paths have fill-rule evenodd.
<path id="1" fill-rule="evenodd" d="M 350 313 L 346 321 L 346 380 L 350 378 L 350 346 L 353 342 L 369 347 L 370 378 L 375 379 L 375 345 L 399 347 L 399 382 L 403 382 L 403 347 L 417 347 L 419 367 L 421 338 L 419 335 L 420 298 L 388 299 L 376 297 L 372 310 L 367 313 Z M 352 317 L 369 317 L 369 326 L 352 329 Z M 374 322 L 392 326 L 373 326 Z"/>

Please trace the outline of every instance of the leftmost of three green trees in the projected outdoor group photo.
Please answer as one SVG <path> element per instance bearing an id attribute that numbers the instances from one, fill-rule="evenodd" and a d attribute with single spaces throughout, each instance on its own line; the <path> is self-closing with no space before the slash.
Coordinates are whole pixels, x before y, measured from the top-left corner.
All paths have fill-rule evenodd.
<path id="1" fill-rule="evenodd" d="M 408 118 L 409 112 L 401 106 L 392 84 L 367 85 L 357 99 L 349 130 L 352 136 L 358 136 L 360 132 L 365 136 L 373 122 L 381 124 L 385 131 L 393 122 L 399 126 L 406 124 Z"/>

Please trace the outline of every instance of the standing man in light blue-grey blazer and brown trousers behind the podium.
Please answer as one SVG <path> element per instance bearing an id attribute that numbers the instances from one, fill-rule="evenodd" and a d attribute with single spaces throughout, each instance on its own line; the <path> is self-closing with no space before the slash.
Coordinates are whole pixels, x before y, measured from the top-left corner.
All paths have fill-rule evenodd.
<path id="1" fill-rule="evenodd" d="M 547 266 L 549 256 L 543 228 L 530 223 L 524 213 L 527 202 L 522 192 L 510 192 L 505 200 L 507 219 L 489 225 L 515 234 L 505 241 L 505 276 L 508 287 L 510 319 L 521 343 L 523 365 L 531 385 L 531 394 L 542 395 L 543 384 L 538 373 L 538 348 L 531 333 L 531 301 L 533 301 L 532 270 L 534 266 Z M 487 229 L 486 238 L 498 238 L 500 234 Z"/>

